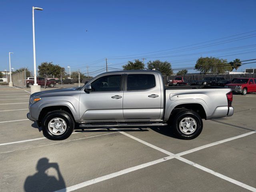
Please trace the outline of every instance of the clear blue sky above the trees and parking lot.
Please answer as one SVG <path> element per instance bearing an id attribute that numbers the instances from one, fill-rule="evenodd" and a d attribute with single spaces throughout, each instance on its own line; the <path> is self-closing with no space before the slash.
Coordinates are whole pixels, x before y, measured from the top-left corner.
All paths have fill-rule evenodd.
<path id="1" fill-rule="evenodd" d="M 104 58 L 112 68 L 143 57 L 172 68 L 194 66 L 200 56 L 256 58 L 255 0 L 1 0 L 0 70 L 9 70 L 8 52 L 14 52 L 12 67 L 33 69 L 32 6 L 44 8 L 35 11 L 37 66 L 52 61 L 82 72 L 89 66 L 95 76 Z M 191 44 L 197 45 L 178 48 Z M 238 71 L 251 67 L 256 64 Z"/>

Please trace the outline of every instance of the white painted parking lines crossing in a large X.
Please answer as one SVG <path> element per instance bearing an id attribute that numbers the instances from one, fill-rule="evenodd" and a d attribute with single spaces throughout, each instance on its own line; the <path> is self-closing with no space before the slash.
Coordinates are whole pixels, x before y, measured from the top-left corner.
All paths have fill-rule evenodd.
<path id="1" fill-rule="evenodd" d="M 115 130 L 118 130 L 118 129 L 115 128 Z M 120 176 L 120 175 L 129 173 L 129 172 L 132 172 L 132 171 L 136 171 L 136 170 L 139 170 L 139 169 L 142 169 L 142 168 L 145 168 L 145 167 L 154 165 L 154 164 L 158 164 L 158 163 L 160 163 L 160 162 L 164 162 L 164 161 L 166 161 L 166 160 L 170 160 L 170 159 L 172 159 L 172 158 L 176 158 L 176 159 L 178 159 L 178 160 L 180 160 L 180 161 L 182 161 L 182 162 L 185 162 L 185 163 L 190 164 L 190 165 L 192 165 L 192 166 L 194 166 L 194 167 L 196 167 L 196 168 L 199 168 L 200 170 L 203 170 L 203 171 L 208 172 L 208 173 L 210 173 L 210 174 L 213 174 L 213 175 L 215 175 L 215 176 L 217 176 L 217 177 L 219 177 L 219 178 L 222 178 L 222 179 L 224 179 L 224 180 L 226 180 L 226 181 L 229 181 L 229 182 L 231 182 L 231 183 L 233 183 L 233 184 L 236 184 L 236 185 L 238 185 L 238 186 L 240 186 L 240 187 L 242 187 L 242 188 L 245 188 L 245 189 L 248 189 L 248 190 L 250 190 L 250 191 L 256 192 L 256 188 L 254 188 L 254 187 L 252 187 L 252 186 L 246 185 L 246 184 L 244 184 L 244 183 L 242 183 L 242 182 L 239 182 L 239 181 L 237 181 L 237 180 L 234 180 L 234 179 L 232 179 L 232 178 L 229 178 L 229 177 L 227 177 L 227 176 L 224 176 L 224 175 L 222 175 L 222 174 L 220 174 L 220 173 L 218 173 L 218 172 L 214 172 L 213 170 L 210 170 L 210 169 L 208 169 L 208 168 L 206 168 L 206 167 L 204 167 L 204 166 L 201 166 L 201 165 L 196 164 L 196 163 L 194 163 L 194 162 L 192 162 L 192 161 L 190 161 L 190 160 L 187 160 L 187 159 L 185 159 L 185 158 L 180 157 L 180 155 L 192 153 L 192 152 L 194 152 L 194 151 L 197 151 L 197 150 L 200 150 L 200 149 L 203 149 L 203 148 L 207 148 L 207 147 L 214 146 L 214 145 L 217 145 L 217 144 L 221 144 L 221 143 L 224 143 L 224 142 L 228 142 L 228 141 L 231 141 L 231 140 L 234 140 L 234 139 L 237 139 L 237 138 L 241 138 L 241 137 L 244 137 L 244 136 L 248 136 L 248 135 L 250 135 L 250 134 L 254 134 L 254 133 L 256 133 L 256 131 L 252 131 L 252 132 L 249 132 L 249 133 L 246 133 L 246 134 L 242 134 L 242 135 L 240 135 L 240 136 L 235 136 L 235 137 L 232 137 L 232 138 L 228 138 L 228 139 L 224 139 L 224 140 L 221 140 L 221 141 L 218 141 L 218 142 L 214 142 L 214 143 L 212 143 L 212 144 L 204 145 L 204 146 L 199 147 L 199 148 L 195 148 L 195 149 L 192 149 L 192 150 L 188 150 L 188 151 L 186 151 L 186 152 L 179 153 L 180 155 L 178 155 L 178 154 L 173 154 L 173 153 L 171 153 L 171 152 L 168 152 L 168 151 L 166 151 L 166 150 L 164 150 L 164 149 L 162 149 L 162 148 L 159 148 L 159 147 L 157 147 L 157 146 L 154 146 L 154 145 L 152 145 L 152 144 L 150 144 L 150 143 L 148 143 L 148 142 L 145 142 L 145 141 L 143 141 L 143 140 L 141 140 L 141 139 L 139 139 L 139 138 L 136 138 L 136 137 L 134 137 L 134 136 L 132 136 L 132 135 L 130 135 L 130 134 L 127 134 L 127 133 L 125 133 L 125 132 L 122 132 L 122 131 L 120 131 L 120 130 L 118 130 L 118 131 L 119 131 L 121 134 L 124 134 L 125 136 L 128 136 L 128 137 L 130 137 L 130 138 L 132 138 L 132 139 L 134 139 L 134 140 L 136 140 L 136 141 L 138 141 L 138 142 L 141 142 L 141 143 L 143 143 L 143 144 L 145 144 L 145 145 L 147 145 L 147 146 L 149 146 L 149 147 L 152 147 L 152 148 L 154 148 L 154 149 L 156 149 L 156 150 L 159 150 L 159 151 L 161 151 L 161 152 L 163 152 L 163 153 L 165 153 L 165 154 L 169 154 L 169 155 L 171 154 L 171 155 L 168 156 L 168 157 L 166 157 L 166 158 L 161 158 L 161 159 L 158 159 L 158 160 L 155 160 L 155 161 L 152 161 L 152 162 L 148 162 L 148 163 L 141 164 L 141 165 L 138 165 L 138 166 L 134 166 L 134 167 L 131 167 L 131 168 L 128 168 L 128 169 L 124 169 L 124 170 L 118 171 L 118 172 L 114 172 L 114 173 L 112 173 L 112 174 L 108 174 L 108 175 L 105 175 L 105 176 L 102 176 L 102 177 L 94 178 L 94 179 L 92 179 L 92 180 L 88 180 L 88 181 L 82 182 L 82 183 L 80 183 L 80 184 L 76 184 L 76 185 L 73 185 L 73 186 L 70 186 L 70 187 L 61 189 L 61 190 L 57 190 L 56 192 L 70 192 L 70 191 L 74 191 L 74 190 L 77 190 L 77 189 L 80 189 L 80 188 L 83 188 L 83 187 L 86 187 L 86 186 L 89 186 L 89 185 L 92 185 L 92 184 L 95 184 L 95 183 L 98 183 L 98 182 L 101 182 L 101 181 L 104 181 L 104 180 L 108 180 L 108 179 L 110 179 L 110 178 L 114 178 L 114 177 L 117 177 L 117 176 Z"/>

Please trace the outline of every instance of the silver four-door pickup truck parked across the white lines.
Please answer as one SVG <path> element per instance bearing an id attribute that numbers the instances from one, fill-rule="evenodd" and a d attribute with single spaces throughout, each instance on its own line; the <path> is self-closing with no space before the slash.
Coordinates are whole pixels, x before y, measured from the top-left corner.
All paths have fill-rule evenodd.
<path id="1" fill-rule="evenodd" d="M 232 116 L 232 92 L 209 86 L 164 87 L 154 70 L 100 74 L 80 88 L 36 92 L 27 117 L 42 127 L 50 140 L 64 140 L 75 126 L 166 126 L 179 138 L 193 139 L 202 119 Z"/>

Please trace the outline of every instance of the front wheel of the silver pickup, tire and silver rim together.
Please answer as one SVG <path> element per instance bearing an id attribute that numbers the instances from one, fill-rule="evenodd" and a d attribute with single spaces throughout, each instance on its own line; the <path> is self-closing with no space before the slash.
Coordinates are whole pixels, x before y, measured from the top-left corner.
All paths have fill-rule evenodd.
<path id="1" fill-rule="evenodd" d="M 42 131 L 50 140 L 64 140 L 68 138 L 75 127 L 72 116 L 63 110 L 55 110 L 46 114 L 42 120 Z"/>

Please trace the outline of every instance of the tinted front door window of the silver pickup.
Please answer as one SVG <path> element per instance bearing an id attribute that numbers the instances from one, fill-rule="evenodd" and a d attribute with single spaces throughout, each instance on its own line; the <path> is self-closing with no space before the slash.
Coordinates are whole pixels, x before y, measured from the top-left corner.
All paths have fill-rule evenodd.
<path id="1" fill-rule="evenodd" d="M 98 78 L 91 84 L 92 91 L 120 91 L 121 75 L 107 75 Z"/>

